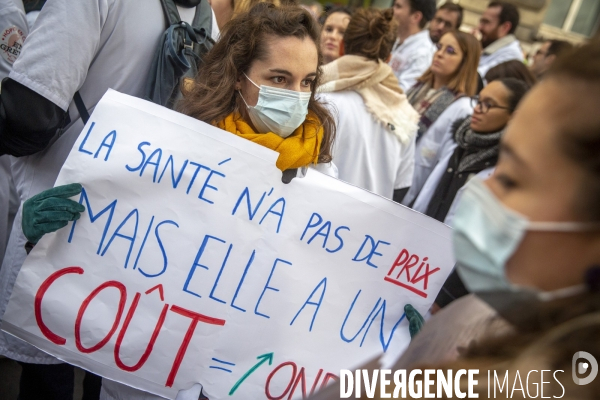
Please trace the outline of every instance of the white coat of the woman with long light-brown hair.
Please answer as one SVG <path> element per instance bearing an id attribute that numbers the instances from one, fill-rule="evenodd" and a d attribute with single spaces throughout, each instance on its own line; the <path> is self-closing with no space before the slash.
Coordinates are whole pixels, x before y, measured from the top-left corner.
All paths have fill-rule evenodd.
<path id="1" fill-rule="evenodd" d="M 412 184 L 402 204 L 408 206 L 419 196 L 419 193 L 426 191 L 425 182 L 432 174 L 437 165 L 446 165 L 454 149 L 456 142 L 452 137 L 452 126 L 457 120 L 462 120 L 473 113 L 471 100 L 468 97 L 461 97 L 454 101 L 444 110 L 438 119 L 423 134 L 421 140 L 417 143 L 415 151 L 415 174 Z M 442 160 L 445 160 L 442 161 Z M 433 188 L 435 190 L 435 187 Z M 431 198 L 430 193 L 428 195 Z M 413 205 L 415 208 L 417 203 Z M 424 210 L 417 210 L 424 212 Z"/>

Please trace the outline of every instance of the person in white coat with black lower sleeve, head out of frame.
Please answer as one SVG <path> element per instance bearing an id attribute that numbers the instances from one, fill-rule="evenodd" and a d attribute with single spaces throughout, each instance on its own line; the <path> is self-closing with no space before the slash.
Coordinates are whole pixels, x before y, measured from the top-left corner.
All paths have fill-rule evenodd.
<path id="1" fill-rule="evenodd" d="M 192 20 L 193 8 L 179 10 L 184 20 Z M 13 162 L 13 177 L 21 201 L 54 185 L 83 129 L 72 101 L 75 92 L 81 94 L 88 112 L 109 88 L 141 97 L 166 25 L 158 0 L 56 0 L 45 4 L 2 85 L 6 120 L 0 130 L 0 154 L 20 156 Z M 218 35 L 214 14 L 212 26 L 213 36 Z M 23 104 L 28 105 L 26 110 Z M 57 137 L 54 133 L 65 115 L 71 122 Z M 43 118 L 46 120 L 40 123 Z M 34 122 L 39 123 L 37 129 L 31 128 Z M 17 129 L 19 123 L 23 129 Z M 0 320 L 26 257 L 25 243 L 19 212 L 0 268 Z M 29 365 L 60 363 L 4 332 L 0 332 L 0 355 Z M 66 379 L 61 393 L 68 391 Z M 44 396 L 51 395 L 52 388 L 44 387 L 42 380 L 31 385 Z M 24 393 L 20 396 L 28 398 Z"/>

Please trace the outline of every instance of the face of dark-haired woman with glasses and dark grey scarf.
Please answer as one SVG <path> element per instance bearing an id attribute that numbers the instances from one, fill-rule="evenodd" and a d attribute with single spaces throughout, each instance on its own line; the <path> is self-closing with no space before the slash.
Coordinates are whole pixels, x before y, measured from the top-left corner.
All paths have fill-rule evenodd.
<path id="1" fill-rule="evenodd" d="M 510 119 L 510 92 L 499 81 L 490 82 L 479 93 L 479 104 L 473 109 L 471 129 L 475 132 L 493 133 L 506 126 Z M 487 112 L 484 112 L 487 110 Z"/>

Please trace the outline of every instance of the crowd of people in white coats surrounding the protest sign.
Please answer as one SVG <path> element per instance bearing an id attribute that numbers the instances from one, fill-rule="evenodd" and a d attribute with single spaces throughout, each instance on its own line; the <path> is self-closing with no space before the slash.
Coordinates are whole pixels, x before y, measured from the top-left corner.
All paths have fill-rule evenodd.
<path id="1" fill-rule="evenodd" d="M 109 88 L 144 95 L 161 1 L 105 3 L 48 1 L 29 26 L 20 0 L 0 0 L 0 29 L 17 27 L 0 60 L 0 321 L 28 251 L 82 211 L 66 199 L 80 186 L 53 188 L 82 114 Z M 175 3 L 191 24 L 200 2 Z M 487 5 L 476 35 L 453 2 L 323 15 L 280 0 L 210 5 L 214 46 L 176 111 L 278 152 L 284 180 L 310 167 L 453 228 L 456 268 L 422 329 L 407 305 L 415 336 L 398 368 L 600 358 L 598 38 L 545 41 L 527 66 L 519 10 L 504 1 Z M 502 307 L 481 306 L 492 291 Z M 468 326 L 436 323 L 457 309 Z M 420 351 L 436 334 L 445 350 Z M 0 355 L 22 366 L 19 399 L 72 398 L 72 366 L 4 332 Z M 85 399 L 154 398 L 91 373 L 84 387 Z M 600 381 L 567 390 L 598 398 Z"/>

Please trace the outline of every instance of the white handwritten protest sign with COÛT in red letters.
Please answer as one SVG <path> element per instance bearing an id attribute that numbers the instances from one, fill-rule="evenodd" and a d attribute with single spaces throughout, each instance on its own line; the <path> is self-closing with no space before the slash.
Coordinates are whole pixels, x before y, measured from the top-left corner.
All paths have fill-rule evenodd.
<path id="1" fill-rule="evenodd" d="M 340 132 L 343 134 L 343 132 Z M 2 329 L 174 398 L 303 398 L 410 341 L 452 266 L 450 228 L 193 118 L 105 94 L 56 185 L 81 218 L 23 265 Z"/>

